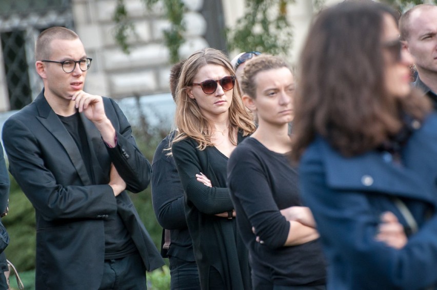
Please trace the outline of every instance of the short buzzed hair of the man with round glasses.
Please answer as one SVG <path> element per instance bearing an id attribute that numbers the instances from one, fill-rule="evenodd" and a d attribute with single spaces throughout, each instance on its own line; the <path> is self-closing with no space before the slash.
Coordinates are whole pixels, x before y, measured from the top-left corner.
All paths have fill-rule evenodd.
<path id="1" fill-rule="evenodd" d="M 50 58 L 51 43 L 54 39 L 74 40 L 79 38 L 76 32 L 60 26 L 50 27 L 41 32 L 36 38 L 35 59 L 43 60 Z"/>

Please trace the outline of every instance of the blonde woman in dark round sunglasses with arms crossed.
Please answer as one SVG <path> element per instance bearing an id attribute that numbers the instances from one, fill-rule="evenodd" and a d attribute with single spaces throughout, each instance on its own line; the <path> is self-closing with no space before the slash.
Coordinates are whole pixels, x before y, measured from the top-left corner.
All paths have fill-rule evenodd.
<path id="1" fill-rule="evenodd" d="M 202 289 L 251 288 L 248 253 L 226 186 L 231 152 L 255 129 L 239 91 L 229 60 L 211 48 L 187 58 L 177 85 L 172 154 Z"/>

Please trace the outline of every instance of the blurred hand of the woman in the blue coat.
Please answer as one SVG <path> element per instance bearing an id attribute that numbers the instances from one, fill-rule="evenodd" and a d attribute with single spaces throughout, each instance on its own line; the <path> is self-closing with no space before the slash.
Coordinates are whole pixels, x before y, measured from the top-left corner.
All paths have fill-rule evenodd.
<path id="1" fill-rule="evenodd" d="M 402 248 L 408 241 L 404 227 L 392 212 L 381 215 L 381 223 L 378 226 L 378 235 L 375 239 L 386 243 L 394 248 Z"/>

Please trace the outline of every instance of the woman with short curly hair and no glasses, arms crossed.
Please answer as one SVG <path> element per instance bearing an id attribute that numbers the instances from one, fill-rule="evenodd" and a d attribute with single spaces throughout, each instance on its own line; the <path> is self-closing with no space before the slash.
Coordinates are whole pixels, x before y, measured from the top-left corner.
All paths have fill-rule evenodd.
<path id="1" fill-rule="evenodd" d="M 232 152 L 228 185 L 253 289 L 326 289 L 319 234 L 289 162 L 293 74 L 281 58 L 261 55 L 246 64 L 240 84 L 258 127 Z"/>

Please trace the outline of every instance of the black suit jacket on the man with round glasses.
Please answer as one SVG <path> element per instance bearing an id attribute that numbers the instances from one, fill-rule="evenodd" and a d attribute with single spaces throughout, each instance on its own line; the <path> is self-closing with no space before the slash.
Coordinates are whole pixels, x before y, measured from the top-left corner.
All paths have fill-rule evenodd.
<path id="1" fill-rule="evenodd" d="M 136 147 L 120 108 L 110 98 L 104 98 L 104 106 L 116 131 L 115 148 L 106 146 L 93 123 L 81 114 L 92 177 L 44 90 L 5 122 L 9 170 L 36 212 L 36 289 L 97 289 L 103 275 L 104 220 L 115 212 L 147 270 L 164 264 L 127 193 L 114 197 L 108 185 L 111 162 L 133 193 L 147 187 L 151 167 Z"/>

